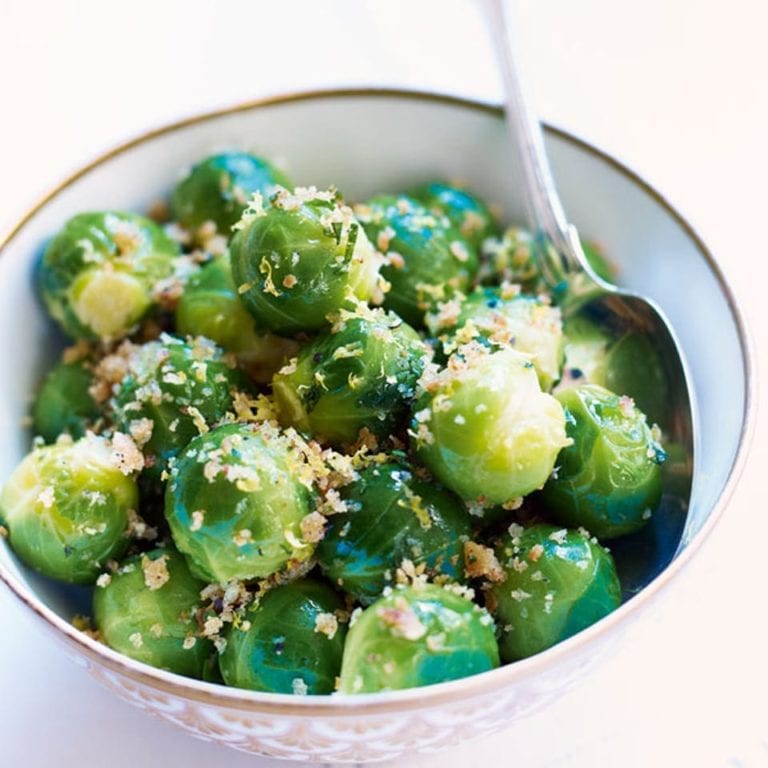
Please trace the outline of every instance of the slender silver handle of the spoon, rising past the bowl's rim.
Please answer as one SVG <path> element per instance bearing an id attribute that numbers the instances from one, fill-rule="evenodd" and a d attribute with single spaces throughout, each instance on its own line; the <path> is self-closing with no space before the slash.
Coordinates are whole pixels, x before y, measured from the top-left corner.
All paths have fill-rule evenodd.
<path id="1" fill-rule="evenodd" d="M 488 32 L 493 41 L 506 101 L 506 118 L 512 144 L 526 186 L 528 223 L 554 246 L 545 252 L 540 267 L 551 287 L 561 285 L 569 275 L 584 271 L 584 257 L 576 228 L 568 223 L 557 194 L 544 149 L 541 125 L 526 98 L 510 31 L 507 0 L 482 0 Z"/>

